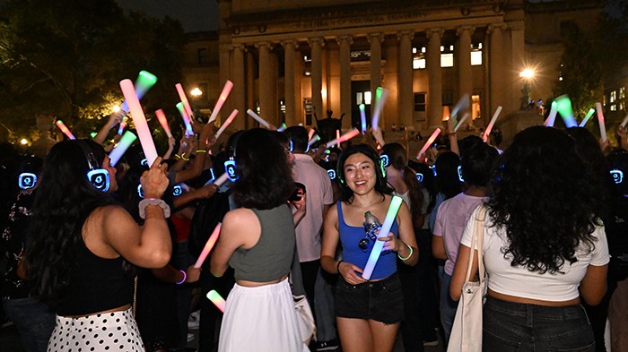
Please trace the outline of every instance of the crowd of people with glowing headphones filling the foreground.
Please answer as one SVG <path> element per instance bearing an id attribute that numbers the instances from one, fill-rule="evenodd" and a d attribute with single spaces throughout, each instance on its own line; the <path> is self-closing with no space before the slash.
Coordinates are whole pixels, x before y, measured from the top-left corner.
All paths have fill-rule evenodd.
<path id="1" fill-rule="evenodd" d="M 3 147 L 0 289 L 29 352 L 185 351 L 190 314 L 199 351 L 389 352 L 397 335 L 406 352 L 447 346 L 473 251 L 490 278 L 485 351 L 606 351 L 607 326 L 608 347 L 628 350 L 621 126 L 614 150 L 581 127 L 535 126 L 501 155 L 451 131 L 432 163 L 370 134 L 326 149 L 301 125 L 239 131 L 219 147 L 198 120 L 152 165 L 137 143 L 112 166 L 118 122 L 45 159 Z M 397 198 L 389 233 L 372 232 Z"/>

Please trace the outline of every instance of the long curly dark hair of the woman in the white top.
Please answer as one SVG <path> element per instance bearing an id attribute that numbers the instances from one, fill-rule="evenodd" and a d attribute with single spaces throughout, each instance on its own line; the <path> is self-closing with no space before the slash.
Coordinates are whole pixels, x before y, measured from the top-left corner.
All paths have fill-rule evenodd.
<path id="1" fill-rule="evenodd" d="M 561 272 L 579 248 L 595 248 L 597 193 L 571 138 L 551 127 L 518 133 L 498 159 L 489 201 L 491 226 L 504 228 L 510 265 Z M 580 247 L 580 245 L 583 245 Z"/>

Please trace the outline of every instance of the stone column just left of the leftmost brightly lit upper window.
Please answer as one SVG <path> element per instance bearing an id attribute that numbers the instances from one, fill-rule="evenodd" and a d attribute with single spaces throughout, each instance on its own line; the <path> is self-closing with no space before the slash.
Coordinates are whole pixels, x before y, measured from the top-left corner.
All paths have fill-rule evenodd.
<path id="1" fill-rule="evenodd" d="M 412 69 L 412 38 L 414 31 L 404 30 L 397 33 L 399 39 L 399 116 L 397 124 L 413 125 L 414 94 Z"/>

